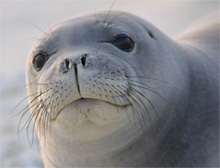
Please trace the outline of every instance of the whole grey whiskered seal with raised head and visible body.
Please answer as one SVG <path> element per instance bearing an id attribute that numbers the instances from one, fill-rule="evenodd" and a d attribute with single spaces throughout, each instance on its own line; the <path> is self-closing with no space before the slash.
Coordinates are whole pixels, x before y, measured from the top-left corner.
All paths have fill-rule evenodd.
<path id="1" fill-rule="evenodd" d="M 45 167 L 219 166 L 218 28 L 101 11 L 45 32 L 26 67 Z"/>

